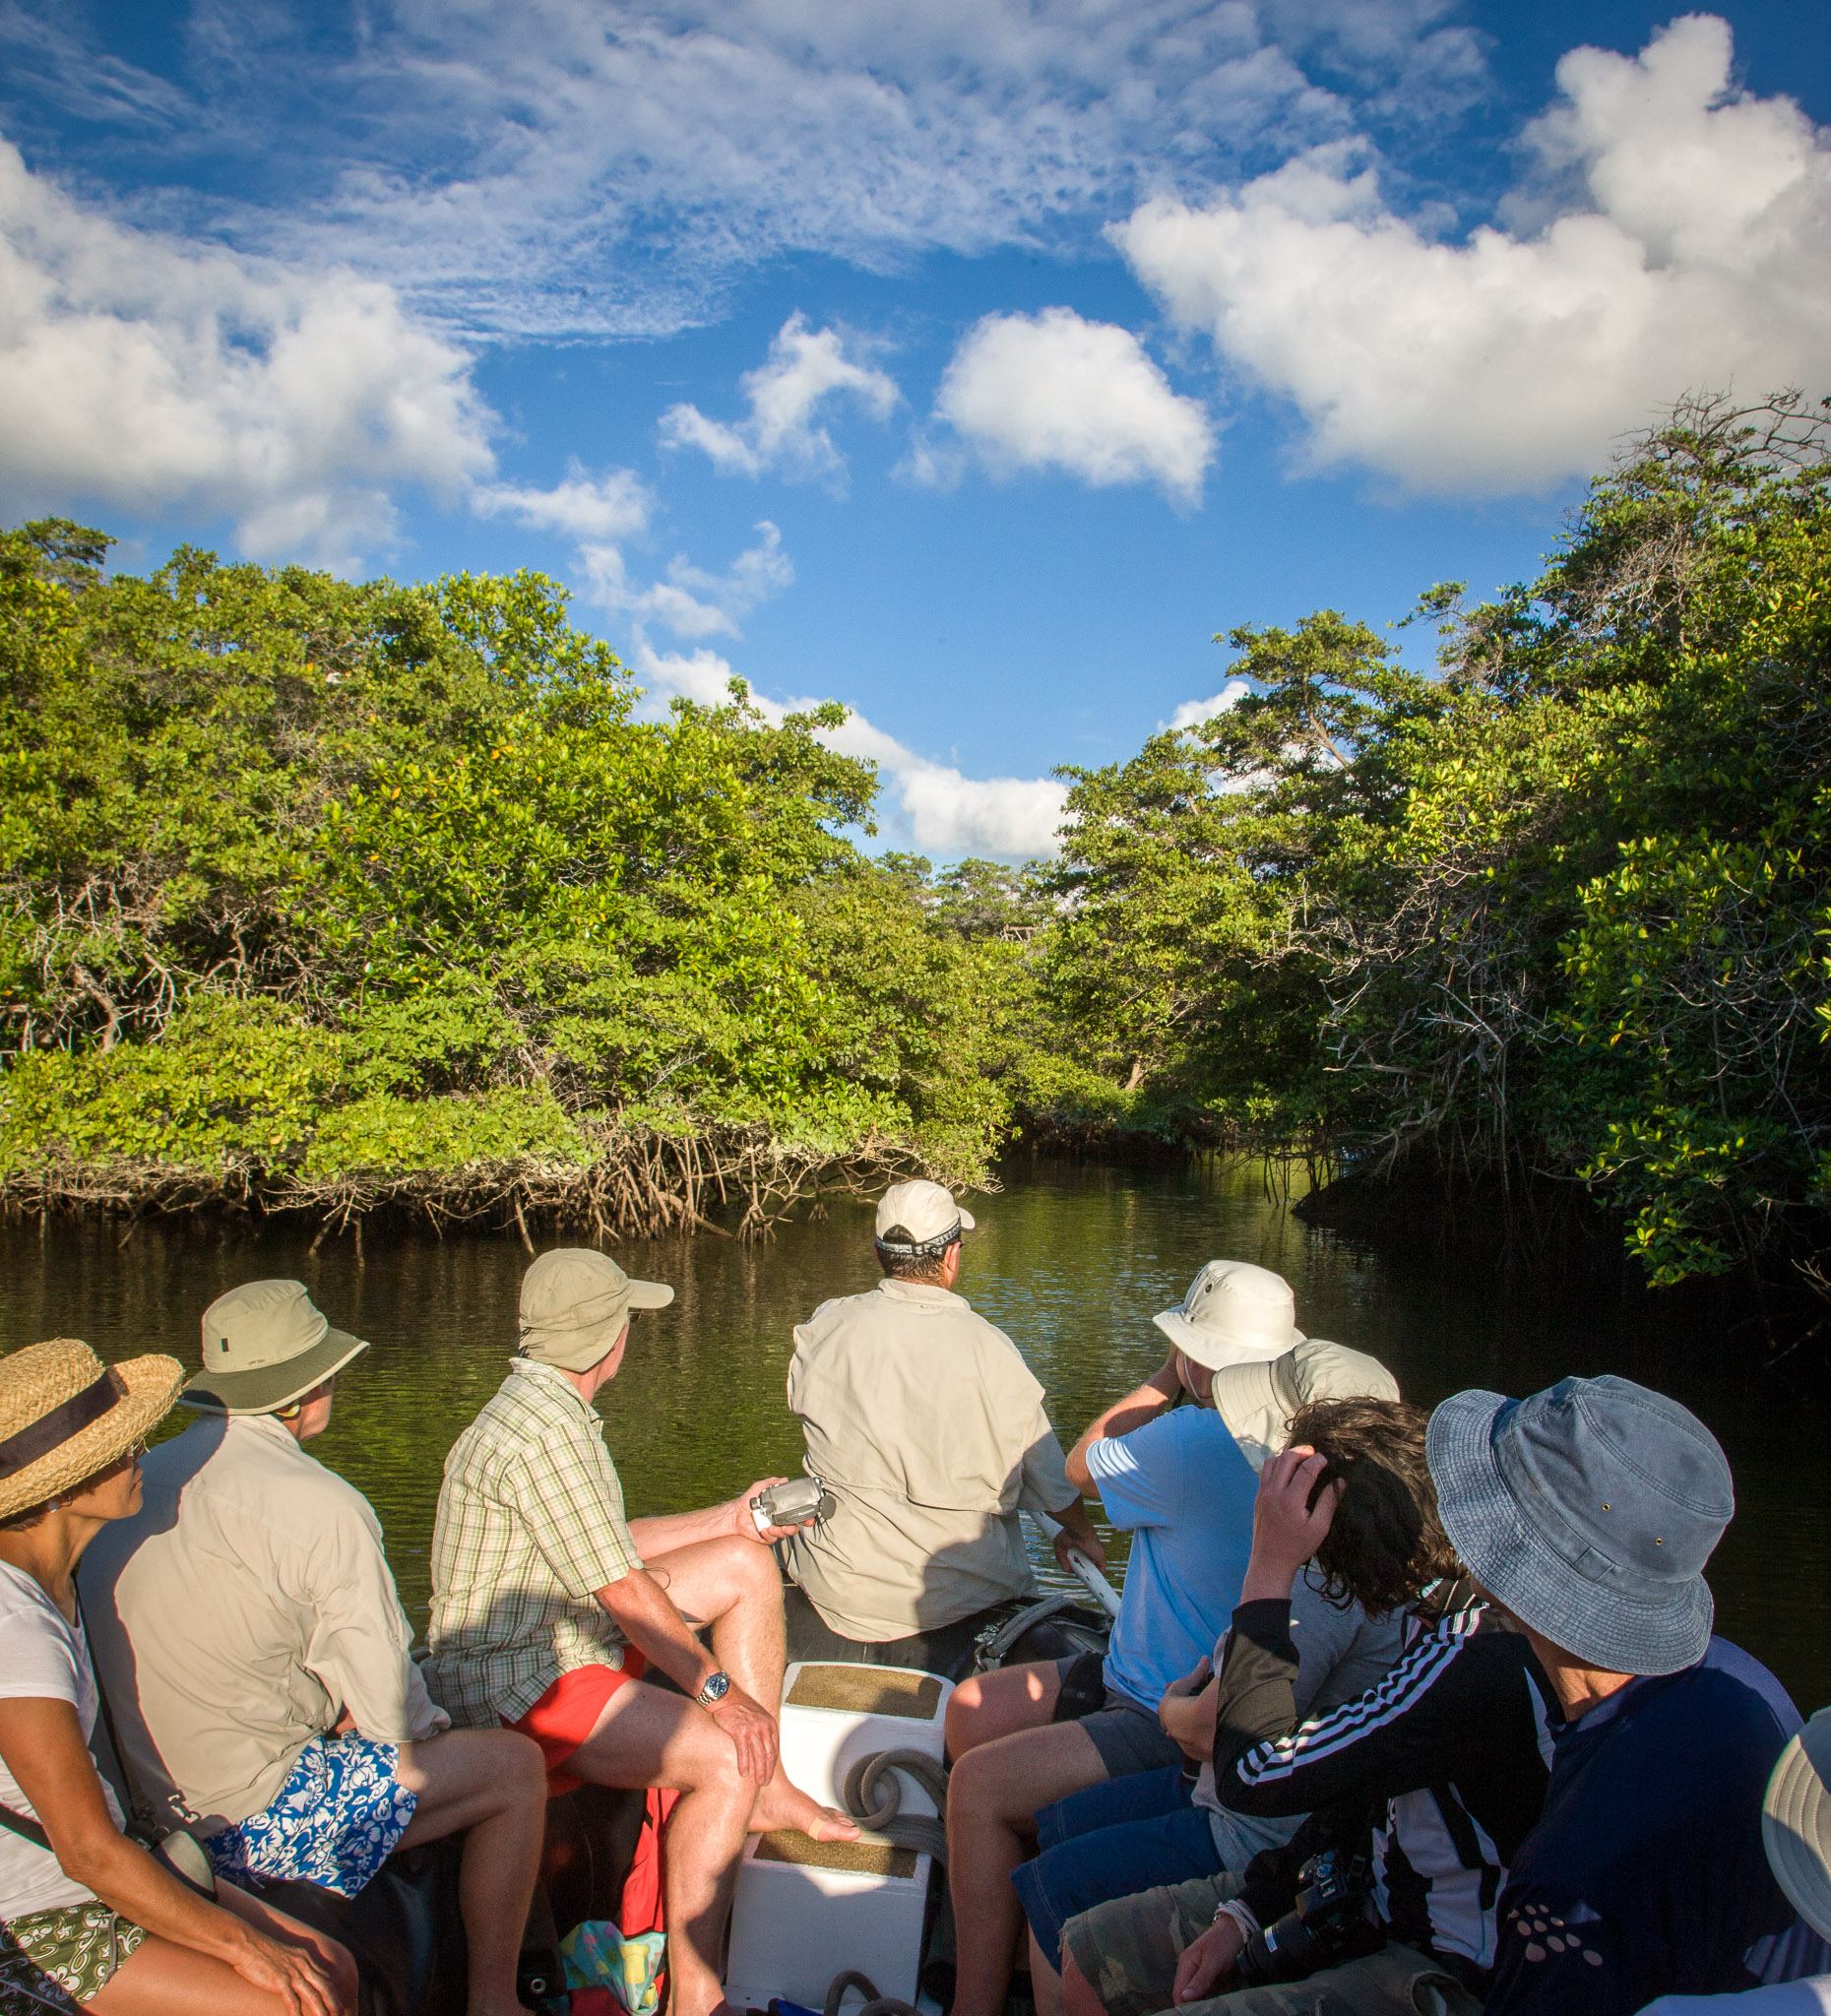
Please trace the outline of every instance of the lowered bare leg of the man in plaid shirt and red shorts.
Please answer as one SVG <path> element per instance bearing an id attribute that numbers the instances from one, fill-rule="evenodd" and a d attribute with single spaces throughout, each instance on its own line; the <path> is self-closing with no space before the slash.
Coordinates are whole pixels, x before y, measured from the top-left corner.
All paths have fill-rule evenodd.
<path id="1" fill-rule="evenodd" d="M 680 1792 L 667 1822 L 669 2016 L 718 2010 L 718 1949 L 756 1802 L 756 1786 L 738 1774 L 724 1732 L 702 1708 L 637 1679 L 611 1695 L 567 1770 L 593 1784 Z"/>

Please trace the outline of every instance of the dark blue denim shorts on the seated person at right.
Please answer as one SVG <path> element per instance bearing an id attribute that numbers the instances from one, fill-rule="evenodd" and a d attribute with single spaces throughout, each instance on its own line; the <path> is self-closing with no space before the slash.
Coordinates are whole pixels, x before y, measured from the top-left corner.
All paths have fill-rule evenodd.
<path id="1" fill-rule="evenodd" d="M 1113 1897 L 1220 1873 L 1208 1814 L 1190 1804 L 1182 1764 L 1109 1778 L 1036 1814 L 1036 1859 L 1012 1887 L 1053 1966 L 1063 1925 Z"/>

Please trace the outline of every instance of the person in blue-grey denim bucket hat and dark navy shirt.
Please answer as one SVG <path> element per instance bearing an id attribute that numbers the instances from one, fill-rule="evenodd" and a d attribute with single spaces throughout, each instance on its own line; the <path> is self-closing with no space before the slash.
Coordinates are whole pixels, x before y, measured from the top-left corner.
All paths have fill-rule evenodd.
<path id="1" fill-rule="evenodd" d="M 1488 2016 L 1754 1988 L 1793 1925 L 1762 1790 L 1801 1720 L 1710 1631 L 1704 1566 L 1734 1512 L 1716 1437 L 1631 1379 L 1561 1379 L 1446 1399 L 1430 1470 L 1456 1552 L 1565 1714 L 1500 1897 Z"/>

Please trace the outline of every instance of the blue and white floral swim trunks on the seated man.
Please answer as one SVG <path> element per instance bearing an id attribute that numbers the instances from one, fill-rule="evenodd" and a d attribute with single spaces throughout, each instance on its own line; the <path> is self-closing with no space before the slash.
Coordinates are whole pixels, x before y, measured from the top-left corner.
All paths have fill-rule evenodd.
<path id="1" fill-rule="evenodd" d="M 323 1883 L 355 1897 L 393 1855 L 417 1796 L 399 1778 L 399 1746 L 315 1736 L 272 1804 L 204 1847 L 220 1877 Z"/>

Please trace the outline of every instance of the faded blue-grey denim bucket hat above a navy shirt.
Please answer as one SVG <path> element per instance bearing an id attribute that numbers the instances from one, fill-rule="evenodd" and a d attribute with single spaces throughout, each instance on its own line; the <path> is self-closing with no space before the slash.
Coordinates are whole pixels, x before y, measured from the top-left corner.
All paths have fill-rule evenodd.
<path id="1" fill-rule="evenodd" d="M 1520 1623 L 1611 1673 L 1704 1657 L 1704 1562 L 1736 1494 L 1690 1409 L 1613 1373 L 1529 1399 L 1456 1393 L 1426 1447 L 1450 1544 Z"/>

